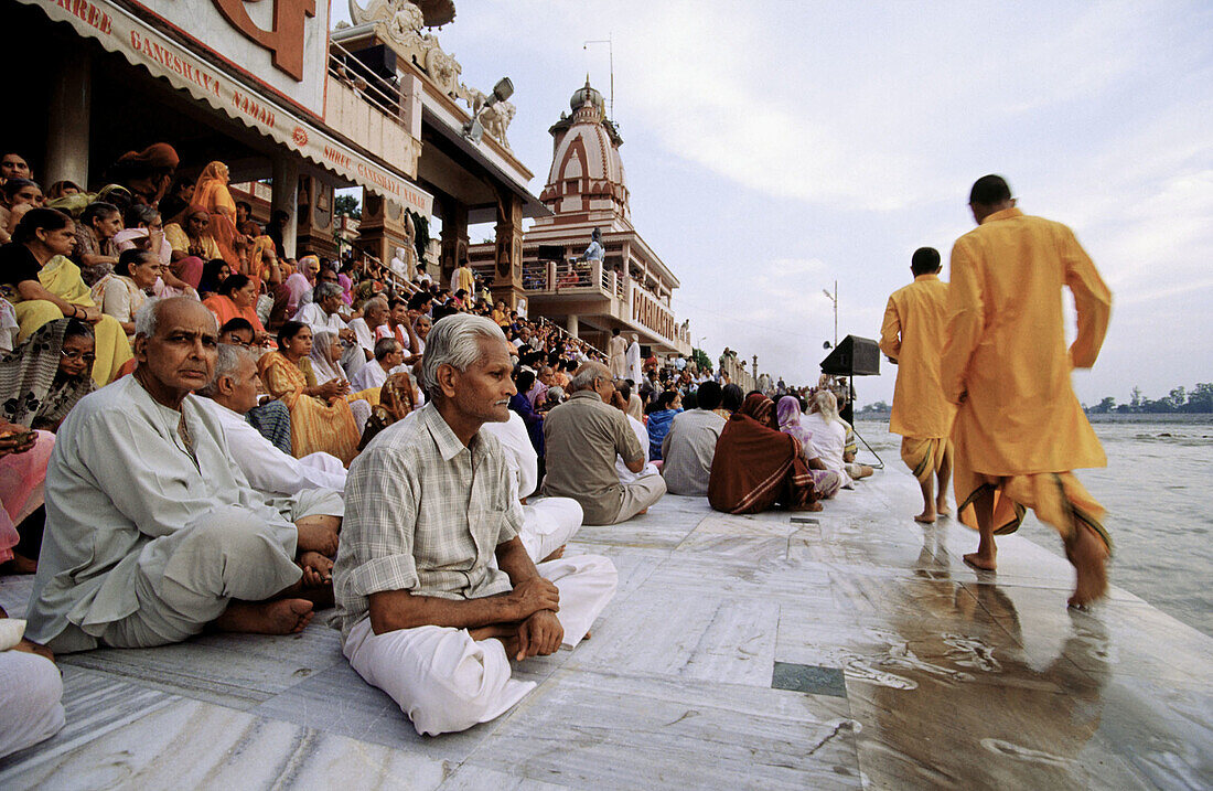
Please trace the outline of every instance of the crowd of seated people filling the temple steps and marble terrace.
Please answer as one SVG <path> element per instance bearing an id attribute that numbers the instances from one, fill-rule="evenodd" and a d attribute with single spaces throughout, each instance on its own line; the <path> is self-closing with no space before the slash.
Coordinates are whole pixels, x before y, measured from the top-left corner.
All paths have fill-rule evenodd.
<path id="1" fill-rule="evenodd" d="M 34 672 L 13 647 L 291 633 L 336 605 L 354 668 L 418 733 L 460 730 L 610 599 L 610 560 L 564 557 L 581 525 L 667 491 L 820 508 L 865 474 L 828 387 L 776 406 L 634 335 L 603 353 L 466 266 L 290 258 L 222 163 L 175 181 L 160 143 L 45 195 L 2 163 L 0 571 L 36 574 L 6 679 Z M 44 723 L 0 728 L 0 755 L 62 725 L 53 687 L 0 704 Z"/>

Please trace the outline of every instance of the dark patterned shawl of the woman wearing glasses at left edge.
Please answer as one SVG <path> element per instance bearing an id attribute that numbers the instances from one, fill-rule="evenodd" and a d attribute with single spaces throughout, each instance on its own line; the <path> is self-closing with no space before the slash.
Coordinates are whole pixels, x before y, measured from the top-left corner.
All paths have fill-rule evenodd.
<path id="1" fill-rule="evenodd" d="M 8 422 L 27 428 L 35 420 L 57 425 L 93 391 L 87 371 L 79 379 L 58 376 L 63 336 L 70 323 L 58 319 L 44 324 L 0 359 L 0 416 Z"/>

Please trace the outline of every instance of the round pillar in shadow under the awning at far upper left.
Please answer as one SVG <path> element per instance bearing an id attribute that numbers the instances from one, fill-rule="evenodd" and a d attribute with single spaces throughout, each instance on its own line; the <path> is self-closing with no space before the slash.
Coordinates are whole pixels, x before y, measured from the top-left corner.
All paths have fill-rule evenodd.
<path id="1" fill-rule="evenodd" d="M 92 119 L 92 58 L 85 47 L 68 47 L 51 59 L 51 102 L 45 173 L 38 183 L 74 181 L 89 189 L 89 131 Z"/>

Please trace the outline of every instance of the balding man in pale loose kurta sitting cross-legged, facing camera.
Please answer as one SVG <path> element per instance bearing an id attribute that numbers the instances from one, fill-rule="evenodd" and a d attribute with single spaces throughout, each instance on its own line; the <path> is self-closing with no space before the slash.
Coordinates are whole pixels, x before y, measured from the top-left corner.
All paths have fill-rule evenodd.
<path id="1" fill-rule="evenodd" d="M 68 653 L 176 643 L 207 626 L 301 631 L 314 592 L 301 576 L 321 585 L 328 562 L 314 556 L 336 551 L 340 517 L 318 502 L 291 524 L 232 463 L 222 426 L 190 394 L 215 368 L 213 313 L 178 297 L 146 305 L 135 324 L 135 374 L 86 396 L 59 428 L 27 636 Z"/>

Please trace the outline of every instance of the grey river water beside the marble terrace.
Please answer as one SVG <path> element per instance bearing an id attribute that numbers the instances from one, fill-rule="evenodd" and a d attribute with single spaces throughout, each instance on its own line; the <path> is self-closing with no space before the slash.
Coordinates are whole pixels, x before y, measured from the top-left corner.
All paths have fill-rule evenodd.
<path id="1" fill-rule="evenodd" d="M 901 438 L 888 426 L 887 419 L 856 421 L 885 465 L 906 472 Z M 1213 415 L 1093 415 L 1092 426 L 1107 467 L 1075 472 L 1107 508 L 1112 584 L 1213 636 Z M 1057 531 L 1031 512 L 1020 534 L 1064 554 Z"/>

